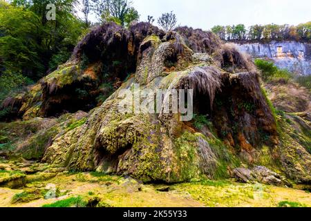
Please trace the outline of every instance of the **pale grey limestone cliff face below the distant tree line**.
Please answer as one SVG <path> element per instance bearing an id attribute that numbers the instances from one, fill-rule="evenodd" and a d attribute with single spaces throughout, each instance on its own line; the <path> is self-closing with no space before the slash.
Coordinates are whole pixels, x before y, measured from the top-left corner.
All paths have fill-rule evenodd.
<path id="1" fill-rule="evenodd" d="M 268 44 L 236 44 L 254 58 L 272 59 L 276 66 L 298 75 L 311 75 L 311 44 L 297 41 L 271 41 Z"/>

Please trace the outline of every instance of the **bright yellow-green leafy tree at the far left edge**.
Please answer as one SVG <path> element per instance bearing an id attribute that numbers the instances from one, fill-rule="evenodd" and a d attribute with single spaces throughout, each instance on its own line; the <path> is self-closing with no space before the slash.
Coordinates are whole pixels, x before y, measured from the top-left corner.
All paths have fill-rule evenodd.
<path id="1" fill-rule="evenodd" d="M 38 55 L 40 21 L 34 12 L 9 5 L 0 8 L 0 30 L 0 57 L 6 70 L 25 75 L 44 71 Z"/>

